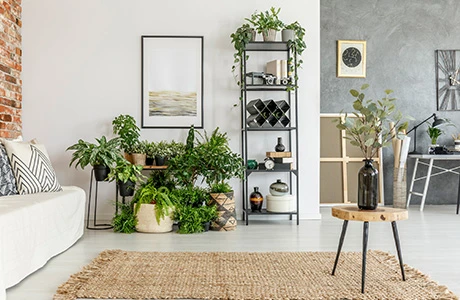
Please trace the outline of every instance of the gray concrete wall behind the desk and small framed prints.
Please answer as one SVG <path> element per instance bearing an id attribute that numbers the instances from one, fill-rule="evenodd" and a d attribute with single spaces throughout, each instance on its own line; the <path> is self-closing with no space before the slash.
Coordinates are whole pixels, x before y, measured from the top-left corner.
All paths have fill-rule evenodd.
<path id="1" fill-rule="evenodd" d="M 383 97 L 395 91 L 399 109 L 415 118 L 409 128 L 434 112 L 449 118 L 438 140 L 453 145 L 451 134 L 460 132 L 460 111 L 439 111 L 436 105 L 435 50 L 460 49 L 458 0 L 321 0 L 321 112 L 352 111 L 351 88 L 369 83 L 366 96 Z M 336 77 L 337 40 L 367 41 L 367 76 Z M 430 144 L 427 127 L 417 130 L 419 151 Z M 411 133 L 412 136 L 412 133 Z M 411 145 L 412 147 L 412 145 Z M 446 164 L 449 165 L 449 164 Z M 413 161 L 408 165 L 408 184 Z M 393 202 L 393 151 L 384 149 L 385 203 Z M 416 185 L 421 191 L 422 186 Z M 456 203 L 458 176 L 432 178 L 426 204 Z M 414 197 L 411 203 L 420 203 Z"/>

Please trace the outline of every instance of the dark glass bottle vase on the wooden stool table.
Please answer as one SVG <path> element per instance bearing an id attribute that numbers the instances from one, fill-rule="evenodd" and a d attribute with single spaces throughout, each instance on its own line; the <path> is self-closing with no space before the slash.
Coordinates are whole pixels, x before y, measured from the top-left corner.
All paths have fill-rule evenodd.
<path id="1" fill-rule="evenodd" d="M 358 172 L 358 208 L 373 210 L 378 205 L 379 172 L 372 165 L 372 159 L 365 159 Z"/>

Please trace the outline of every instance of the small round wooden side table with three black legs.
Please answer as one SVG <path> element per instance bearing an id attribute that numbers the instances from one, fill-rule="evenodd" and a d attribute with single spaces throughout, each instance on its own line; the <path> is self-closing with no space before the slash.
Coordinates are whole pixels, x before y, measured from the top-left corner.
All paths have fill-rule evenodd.
<path id="1" fill-rule="evenodd" d="M 375 210 L 360 210 L 358 206 L 334 206 L 332 207 L 332 216 L 343 221 L 342 233 L 340 235 L 339 247 L 335 257 L 334 268 L 332 275 L 335 274 L 337 263 L 339 261 L 340 252 L 342 251 L 343 240 L 347 231 L 348 221 L 362 221 L 363 225 L 363 260 L 361 273 L 361 293 L 364 293 L 364 283 L 366 279 L 366 254 L 367 254 L 367 239 L 369 236 L 369 222 L 391 222 L 393 228 L 393 236 L 395 239 L 396 250 L 398 251 L 399 266 L 401 267 L 401 275 L 403 281 L 406 280 L 404 274 L 404 266 L 402 261 L 401 246 L 399 244 L 398 228 L 396 221 L 406 220 L 408 218 L 407 210 L 392 207 L 379 207 Z"/>

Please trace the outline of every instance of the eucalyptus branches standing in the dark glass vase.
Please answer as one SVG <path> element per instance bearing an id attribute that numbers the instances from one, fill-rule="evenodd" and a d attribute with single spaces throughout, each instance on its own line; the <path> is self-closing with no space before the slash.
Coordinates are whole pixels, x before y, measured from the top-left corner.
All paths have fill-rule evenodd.
<path id="1" fill-rule="evenodd" d="M 403 139 L 403 130 L 407 129 L 408 122 L 403 122 L 403 115 L 396 109 L 396 98 L 391 97 L 392 90 L 385 90 L 385 96 L 380 100 L 364 100 L 363 90 L 368 84 L 361 86 L 361 92 L 350 90 L 356 98 L 353 102 L 354 117 L 345 114 L 343 118 L 335 120 L 337 128 L 345 130 L 346 139 L 353 146 L 361 149 L 366 159 L 372 159 L 380 148 L 386 147 L 393 138 Z M 409 117 L 406 117 L 409 119 Z M 394 123 L 396 134 L 392 133 L 390 123 Z"/>

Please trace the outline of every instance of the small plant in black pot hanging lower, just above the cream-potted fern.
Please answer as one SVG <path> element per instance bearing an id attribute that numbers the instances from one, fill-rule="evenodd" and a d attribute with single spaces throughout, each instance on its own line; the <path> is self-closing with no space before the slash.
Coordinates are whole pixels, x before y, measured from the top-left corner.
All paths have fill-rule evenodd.
<path id="1" fill-rule="evenodd" d="M 110 170 L 109 180 L 115 180 L 119 187 L 120 196 L 127 197 L 134 194 L 136 182 L 142 181 L 145 176 L 142 175 L 141 165 L 134 165 L 125 158 L 118 158 L 115 167 Z"/>

